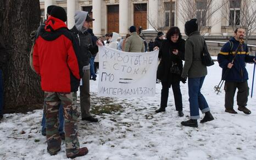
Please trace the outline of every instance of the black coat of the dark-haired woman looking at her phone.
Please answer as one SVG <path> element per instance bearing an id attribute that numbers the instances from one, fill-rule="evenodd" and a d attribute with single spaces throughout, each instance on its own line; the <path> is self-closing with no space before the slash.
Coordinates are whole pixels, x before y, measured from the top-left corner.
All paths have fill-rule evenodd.
<path id="1" fill-rule="evenodd" d="M 174 55 L 172 50 L 178 50 L 178 55 Z M 185 53 L 185 40 L 179 37 L 176 43 L 171 42 L 171 40 L 163 40 L 162 47 L 159 50 L 160 64 L 163 65 L 164 71 L 162 75 L 163 82 L 168 82 L 169 86 L 173 82 L 179 82 L 181 80 L 181 75 L 172 74 L 170 68 L 172 63 L 177 63 L 182 72 L 182 60 L 184 60 Z"/>

